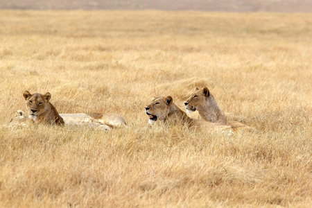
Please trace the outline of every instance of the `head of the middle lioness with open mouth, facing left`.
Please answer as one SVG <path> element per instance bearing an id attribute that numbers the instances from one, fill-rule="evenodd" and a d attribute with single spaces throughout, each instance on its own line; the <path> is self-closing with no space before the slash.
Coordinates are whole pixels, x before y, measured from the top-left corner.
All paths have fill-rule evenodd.
<path id="1" fill-rule="evenodd" d="M 148 123 L 154 123 L 157 119 L 164 120 L 172 103 L 171 96 L 153 98 L 153 101 L 145 107 L 146 114 L 150 116 Z"/>

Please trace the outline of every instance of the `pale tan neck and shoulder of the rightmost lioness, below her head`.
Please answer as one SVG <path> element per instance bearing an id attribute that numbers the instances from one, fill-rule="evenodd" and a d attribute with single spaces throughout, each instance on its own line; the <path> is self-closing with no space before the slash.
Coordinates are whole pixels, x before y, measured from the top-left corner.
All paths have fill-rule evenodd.
<path id="1" fill-rule="evenodd" d="M 226 118 L 223 111 L 218 106 L 214 96 L 210 95 L 202 105 L 196 107 L 200 117 L 210 122 L 219 122 L 226 124 Z M 224 121 L 225 120 L 225 121 Z"/>

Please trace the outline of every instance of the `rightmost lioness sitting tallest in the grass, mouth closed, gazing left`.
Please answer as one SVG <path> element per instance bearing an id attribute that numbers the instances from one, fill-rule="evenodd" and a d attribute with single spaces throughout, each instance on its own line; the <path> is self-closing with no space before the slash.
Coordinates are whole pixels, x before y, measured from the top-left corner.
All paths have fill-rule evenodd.
<path id="1" fill-rule="evenodd" d="M 195 92 L 187 98 L 184 102 L 185 108 L 188 113 L 198 111 L 200 118 L 214 123 L 220 123 L 223 125 L 229 124 L 233 128 L 241 128 L 248 131 L 257 131 L 256 129 L 239 123 L 238 121 L 227 121 L 224 112 L 218 106 L 216 99 L 209 92 L 207 87 L 202 87 L 202 89 L 195 89 Z"/>

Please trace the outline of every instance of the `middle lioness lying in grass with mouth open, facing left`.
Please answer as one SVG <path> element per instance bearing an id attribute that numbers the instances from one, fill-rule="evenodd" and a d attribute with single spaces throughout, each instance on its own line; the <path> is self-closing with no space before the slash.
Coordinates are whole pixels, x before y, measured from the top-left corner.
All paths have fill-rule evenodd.
<path id="1" fill-rule="evenodd" d="M 146 114 L 150 116 L 148 123 L 153 124 L 160 120 L 166 123 L 177 123 L 187 125 L 189 128 L 205 125 L 211 129 L 231 129 L 230 125 L 218 125 L 207 121 L 198 119 L 191 119 L 185 112 L 183 112 L 177 105 L 173 103 L 171 96 L 153 98 L 153 101 L 145 107 Z"/>

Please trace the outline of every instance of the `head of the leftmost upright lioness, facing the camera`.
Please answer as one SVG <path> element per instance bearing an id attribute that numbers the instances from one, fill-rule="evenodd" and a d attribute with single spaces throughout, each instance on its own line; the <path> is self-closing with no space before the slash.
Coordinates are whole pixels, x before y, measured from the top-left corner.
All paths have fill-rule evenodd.
<path id="1" fill-rule="evenodd" d="M 29 119 L 32 119 L 33 121 L 46 111 L 51 99 L 51 94 L 49 92 L 42 95 L 40 93 L 31 94 L 30 92 L 25 91 L 23 96 L 26 100 L 27 110 L 29 111 Z"/>

